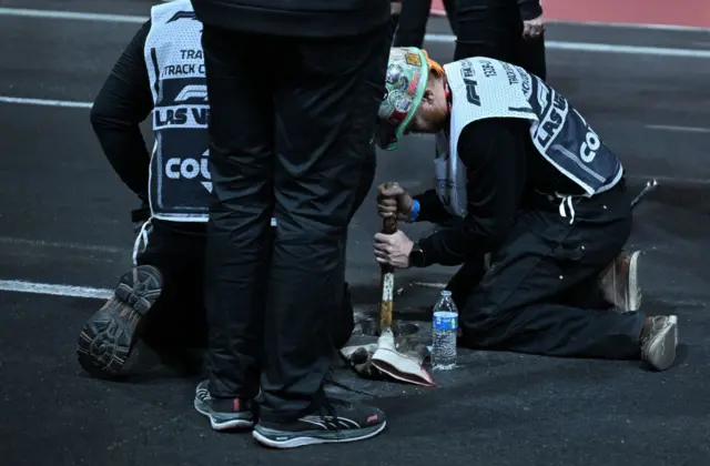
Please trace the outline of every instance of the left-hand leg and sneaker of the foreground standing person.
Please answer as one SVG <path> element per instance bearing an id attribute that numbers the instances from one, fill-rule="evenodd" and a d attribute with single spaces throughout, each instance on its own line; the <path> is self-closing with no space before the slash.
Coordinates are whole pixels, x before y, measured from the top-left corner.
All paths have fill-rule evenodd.
<path id="1" fill-rule="evenodd" d="M 195 407 L 212 427 L 252 425 L 258 393 L 273 211 L 273 67 L 270 38 L 205 24 L 213 199 L 205 247 L 209 383 Z"/>

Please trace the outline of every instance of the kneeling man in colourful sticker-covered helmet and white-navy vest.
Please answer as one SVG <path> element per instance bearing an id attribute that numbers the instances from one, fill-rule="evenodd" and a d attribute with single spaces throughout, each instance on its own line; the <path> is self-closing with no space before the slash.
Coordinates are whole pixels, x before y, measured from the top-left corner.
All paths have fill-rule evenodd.
<path id="1" fill-rule="evenodd" d="M 448 284 L 462 344 L 672 365 L 677 317 L 638 308 L 638 254 L 622 253 L 631 209 L 621 162 L 562 95 L 506 62 L 440 67 L 414 48 L 393 49 L 387 88 L 381 145 L 437 133 L 438 155 L 436 189 L 410 196 L 383 185 L 379 215 L 454 221 L 416 242 L 377 234 L 375 257 L 463 264 Z"/>

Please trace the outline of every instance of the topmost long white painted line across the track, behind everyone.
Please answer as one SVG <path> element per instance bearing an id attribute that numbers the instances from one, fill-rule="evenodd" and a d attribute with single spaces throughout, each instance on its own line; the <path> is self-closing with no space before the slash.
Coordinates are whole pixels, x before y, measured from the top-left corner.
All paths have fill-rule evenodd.
<path id="1" fill-rule="evenodd" d="M 0 7 L 0 17 L 20 17 L 20 18 L 40 18 L 40 19 L 59 19 L 59 20 L 78 20 L 78 21 L 95 21 L 95 22 L 123 22 L 123 23 L 143 23 L 148 21 L 148 17 L 129 16 L 129 14 L 105 14 L 105 13 L 88 13 L 81 11 L 53 11 L 53 10 L 33 10 L 26 8 L 7 8 Z M 661 29 L 661 28 L 656 28 Z M 454 43 L 456 38 L 452 34 L 426 34 L 425 40 L 435 43 Z M 671 49 L 659 47 L 636 47 L 636 45 L 612 45 L 606 43 L 590 42 L 566 42 L 566 41 L 547 41 L 546 47 L 549 50 L 572 50 L 577 52 L 600 52 L 600 53 L 621 53 L 637 54 L 650 57 L 678 57 L 710 59 L 710 50 L 702 49 Z"/>

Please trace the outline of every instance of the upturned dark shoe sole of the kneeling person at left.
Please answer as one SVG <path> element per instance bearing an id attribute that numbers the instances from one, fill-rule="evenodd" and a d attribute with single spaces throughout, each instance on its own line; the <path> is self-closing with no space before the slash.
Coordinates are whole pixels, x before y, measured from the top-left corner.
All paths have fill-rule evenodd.
<path id="1" fill-rule="evenodd" d="M 119 376 L 145 317 L 163 288 L 160 271 L 139 265 L 119 280 L 111 297 L 84 324 L 79 335 L 79 364 L 94 376 Z"/>

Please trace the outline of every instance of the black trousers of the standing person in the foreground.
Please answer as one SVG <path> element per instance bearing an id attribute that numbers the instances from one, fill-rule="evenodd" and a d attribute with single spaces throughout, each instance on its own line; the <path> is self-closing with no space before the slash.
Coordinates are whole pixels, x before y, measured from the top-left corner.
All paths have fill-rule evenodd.
<path id="1" fill-rule="evenodd" d="M 261 385 L 271 422 L 307 412 L 331 365 L 346 229 L 384 94 L 386 32 L 314 40 L 204 26 L 210 392 L 250 398 Z"/>

